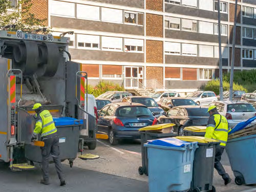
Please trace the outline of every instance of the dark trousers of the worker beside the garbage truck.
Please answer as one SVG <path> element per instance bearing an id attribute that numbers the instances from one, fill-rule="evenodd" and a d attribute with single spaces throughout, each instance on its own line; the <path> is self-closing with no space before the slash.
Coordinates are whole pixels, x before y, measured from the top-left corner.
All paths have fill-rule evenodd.
<path id="1" fill-rule="evenodd" d="M 55 168 L 57 174 L 59 176 L 60 181 L 64 181 L 61 162 L 59 159 L 59 138 L 57 133 L 47 135 L 42 137 L 42 141 L 45 142 L 45 146 L 41 147 L 41 154 L 42 154 L 42 176 L 44 181 L 49 181 L 49 157 L 50 155 L 53 158 Z"/>

